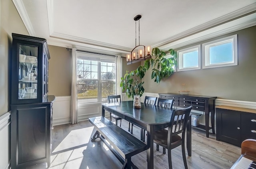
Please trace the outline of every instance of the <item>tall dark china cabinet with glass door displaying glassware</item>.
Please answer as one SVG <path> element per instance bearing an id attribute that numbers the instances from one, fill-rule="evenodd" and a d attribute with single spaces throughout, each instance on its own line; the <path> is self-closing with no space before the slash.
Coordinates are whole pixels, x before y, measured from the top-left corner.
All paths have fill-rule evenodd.
<path id="1" fill-rule="evenodd" d="M 50 167 L 52 102 L 46 39 L 12 33 L 11 167 Z"/>

